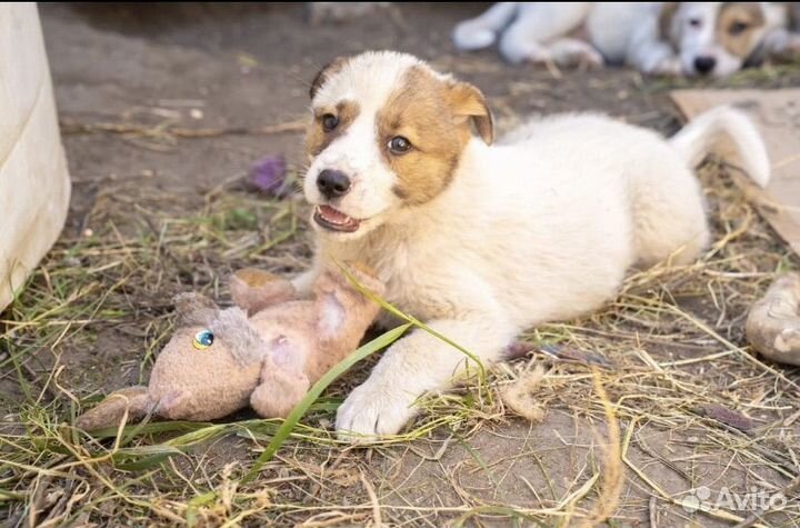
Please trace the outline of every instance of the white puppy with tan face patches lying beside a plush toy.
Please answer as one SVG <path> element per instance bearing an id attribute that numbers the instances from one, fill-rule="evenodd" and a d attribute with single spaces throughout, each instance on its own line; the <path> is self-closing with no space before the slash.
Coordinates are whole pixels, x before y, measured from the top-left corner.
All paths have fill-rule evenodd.
<path id="1" fill-rule="evenodd" d="M 727 108 L 669 140 L 567 114 L 491 146 L 476 87 L 396 52 L 338 59 L 311 98 L 304 193 L 318 248 L 296 285 L 307 289 L 328 259 L 366 261 L 390 302 L 487 362 L 522 329 L 599 308 L 637 262 L 697 258 L 709 230 L 691 169 L 721 135 L 754 181 L 769 179 L 757 130 Z M 347 398 L 337 429 L 397 432 L 420 395 L 464 367 L 464 355 L 414 330 Z"/>

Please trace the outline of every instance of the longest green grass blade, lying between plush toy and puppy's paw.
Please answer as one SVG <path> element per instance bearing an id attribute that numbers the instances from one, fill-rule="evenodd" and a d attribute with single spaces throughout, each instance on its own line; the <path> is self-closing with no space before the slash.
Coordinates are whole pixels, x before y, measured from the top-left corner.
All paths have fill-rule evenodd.
<path id="1" fill-rule="evenodd" d="M 322 391 L 333 382 L 333 380 L 350 370 L 350 368 L 357 362 L 397 341 L 400 336 L 402 336 L 406 330 L 411 327 L 412 323 L 409 322 L 389 330 L 382 336 L 379 336 L 367 345 L 360 347 L 347 358 L 339 361 L 336 367 L 326 372 L 326 375 L 322 376 L 319 381 L 313 385 L 313 387 L 311 387 L 311 390 L 308 391 L 303 399 L 294 406 L 287 419 L 283 420 L 283 425 L 278 429 L 274 437 L 272 437 L 272 441 L 269 442 L 264 452 L 261 454 L 258 460 L 256 460 L 250 470 L 242 478 L 242 484 L 252 480 L 261 467 L 272 459 L 274 454 L 278 452 L 278 449 L 280 449 L 286 439 L 289 437 L 292 429 L 294 429 L 297 422 L 300 421 L 300 418 L 302 418 L 309 407 L 311 407 L 311 405 L 317 400 L 317 398 L 319 398 Z"/>

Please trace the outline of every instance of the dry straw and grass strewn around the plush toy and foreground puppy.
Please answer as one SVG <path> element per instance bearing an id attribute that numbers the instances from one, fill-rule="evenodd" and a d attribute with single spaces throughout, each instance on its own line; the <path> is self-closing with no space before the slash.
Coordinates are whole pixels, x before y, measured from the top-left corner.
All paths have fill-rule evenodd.
<path id="1" fill-rule="evenodd" d="M 800 504 L 789 491 L 800 476 L 800 376 L 760 361 L 743 341 L 748 307 L 797 260 L 724 173 L 709 165 L 701 175 L 718 241 L 700 261 L 636 272 L 592 317 L 524 336 L 534 349 L 606 358 L 610 367 L 597 385 L 580 360 L 537 355 L 497 367 L 487 385 L 422 399 L 421 417 L 402 436 L 352 449 L 332 437 L 331 424 L 364 376 L 360 365 L 247 484 L 241 477 L 277 420 L 146 424 L 98 438 L 70 424 L 101 392 L 147 379 L 171 331 L 172 293 L 226 298 L 232 269 L 289 273 L 306 266 L 300 206 L 247 193 L 233 178 L 209 190 L 197 215 L 157 215 L 170 210 L 169 198 L 137 181 L 111 182 L 80 235 L 59 241 L 0 317 L 0 526 L 570 526 L 607 518 L 609 526 L 798 526 Z M 547 367 L 536 387 L 522 375 L 522 387 L 536 390 L 532 417 L 543 420 L 536 426 L 520 426 L 503 406 L 524 415 L 526 404 L 510 404 L 508 395 L 530 371 L 528 361 Z M 550 421 L 559 416 L 576 429 Z M 556 431 L 548 435 L 574 455 L 579 470 L 559 468 L 554 461 L 566 455 L 514 436 L 520 427 Z M 524 456 L 492 450 L 492 438 L 511 439 Z M 513 469 L 520 457 L 548 464 L 538 474 Z M 524 494 L 498 491 L 513 478 L 522 486 L 520 476 L 529 482 Z M 436 491 L 420 498 L 419 482 Z M 681 500 L 700 485 L 783 490 L 789 500 L 754 516 L 684 511 Z"/>

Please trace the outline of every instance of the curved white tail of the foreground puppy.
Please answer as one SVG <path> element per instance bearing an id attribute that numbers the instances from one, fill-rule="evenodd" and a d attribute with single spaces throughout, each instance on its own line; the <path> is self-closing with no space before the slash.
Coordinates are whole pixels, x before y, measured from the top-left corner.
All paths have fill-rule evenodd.
<path id="1" fill-rule="evenodd" d="M 722 138 L 731 140 L 750 178 L 767 187 L 770 178 L 767 147 L 750 118 L 739 110 L 718 107 L 703 112 L 676 133 L 670 143 L 694 167 Z"/>

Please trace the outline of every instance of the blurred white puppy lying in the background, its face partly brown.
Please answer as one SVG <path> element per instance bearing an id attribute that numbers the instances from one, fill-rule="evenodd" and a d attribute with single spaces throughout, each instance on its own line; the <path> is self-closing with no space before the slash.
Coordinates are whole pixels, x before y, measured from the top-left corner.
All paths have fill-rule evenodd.
<path id="1" fill-rule="evenodd" d="M 511 62 L 627 63 L 643 73 L 724 77 L 800 52 L 796 6 L 773 2 L 501 2 L 453 31 L 461 50 L 494 43 Z"/>

